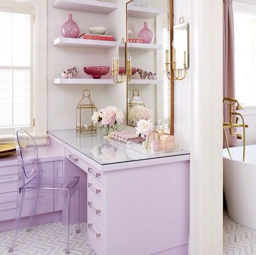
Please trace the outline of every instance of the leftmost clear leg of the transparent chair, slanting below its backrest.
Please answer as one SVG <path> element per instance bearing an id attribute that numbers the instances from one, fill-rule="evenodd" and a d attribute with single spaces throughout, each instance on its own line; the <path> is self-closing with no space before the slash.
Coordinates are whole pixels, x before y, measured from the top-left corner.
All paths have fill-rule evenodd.
<path id="1" fill-rule="evenodd" d="M 16 213 L 15 213 L 14 229 L 12 232 L 12 239 L 10 242 L 9 252 L 13 252 L 13 249 L 14 249 L 14 244 L 15 244 L 15 240 L 16 240 L 19 225 L 20 225 L 24 194 L 25 194 L 25 189 L 20 189 L 20 192 L 18 192 L 17 194 L 17 207 L 16 207 Z"/>

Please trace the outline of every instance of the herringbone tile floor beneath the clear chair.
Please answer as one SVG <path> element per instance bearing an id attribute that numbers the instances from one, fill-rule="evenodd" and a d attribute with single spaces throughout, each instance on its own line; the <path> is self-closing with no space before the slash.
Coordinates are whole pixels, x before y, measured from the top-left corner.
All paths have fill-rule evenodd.
<path id="1" fill-rule="evenodd" d="M 0 233 L 1 255 L 63 255 L 65 254 L 64 226 L 60 221 L 37 225 L 26 232 L 20 229 L 13 253 L 8 253 L 12 231 Z M 81 233 L 71 226 L 70 254 L 96 255 L 87 244 L 87 223 L 81 223 Z"/>

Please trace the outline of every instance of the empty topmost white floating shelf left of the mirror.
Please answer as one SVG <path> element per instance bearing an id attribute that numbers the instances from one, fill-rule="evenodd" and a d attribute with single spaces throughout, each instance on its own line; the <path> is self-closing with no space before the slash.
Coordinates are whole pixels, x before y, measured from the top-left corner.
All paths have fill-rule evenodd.
<path id="1" fill-rule="evenodd" d="M 117 4 L 95 0 L 54 0 L 53 8 L 108 14 L 117 9 Z"/>

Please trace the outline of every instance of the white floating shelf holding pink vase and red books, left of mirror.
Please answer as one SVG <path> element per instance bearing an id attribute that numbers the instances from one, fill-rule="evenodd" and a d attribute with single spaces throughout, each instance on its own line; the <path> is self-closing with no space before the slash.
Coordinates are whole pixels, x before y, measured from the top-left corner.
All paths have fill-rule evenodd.
<path id="1" fill-rule="evenodd" d="M 110 49 L 118 46 L 117 42 L 101 41 L 101 40 L 89 40 L 80 38 L 65 38 L 58 37 L 53 43 L 54 46 L 67 46 L 67 47 L 79 47 L 79 48 L 96 48 L 96 49 Z"/>

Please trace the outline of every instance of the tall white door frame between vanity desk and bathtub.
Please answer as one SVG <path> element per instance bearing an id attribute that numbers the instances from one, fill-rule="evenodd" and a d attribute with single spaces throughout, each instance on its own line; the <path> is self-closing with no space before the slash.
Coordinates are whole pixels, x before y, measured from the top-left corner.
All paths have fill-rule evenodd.
<path id="1" fill-rule="evenodd" d="M 222 255 L 223 0 L 191 0 L 189 255 Z"/>

